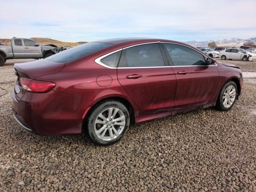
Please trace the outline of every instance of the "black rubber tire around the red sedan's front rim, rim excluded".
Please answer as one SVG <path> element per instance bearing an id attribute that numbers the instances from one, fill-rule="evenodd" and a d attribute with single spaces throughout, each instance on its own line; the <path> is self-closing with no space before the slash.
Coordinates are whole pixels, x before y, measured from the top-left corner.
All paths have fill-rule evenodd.
<path id="1" fill-rule="evenodd" d="M 224 104 L 223 104 L 223 95 L 224 95 L 224 91 L 226 90 L 226 88 L 228 86 L 234 86 L 235 89 L 236 89 L 236 94 L 235 94 L 235 100 L 234 102 L 232 103 L 232 105 L 230 107 L 225 107 Z M 238 90 L 237 90 L 237 86 L 236 86 L 236 83 L 234 81 L 228 81 L 224 84 L 224 86 L 222 87 L 222 89 L 220 90 L 220 94 L 218 96 L 218 100 L 217 100 L 217 103 L 216 103 L 216 108 L 218 110 L 221 110 L 221 111 L 227 111 L 227 110 L 230 110 L 232 108 L 232 106 L 235 104 L 236 102 L 236 97 L 237 97 L 237 93 L 238 93 Z"/>

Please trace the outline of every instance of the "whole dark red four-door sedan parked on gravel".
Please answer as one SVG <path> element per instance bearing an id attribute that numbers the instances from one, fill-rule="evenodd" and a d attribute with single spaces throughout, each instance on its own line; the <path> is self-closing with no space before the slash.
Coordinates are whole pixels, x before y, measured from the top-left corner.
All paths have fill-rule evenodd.
<path id="1" fill-rule="evenodd" d="M 198 108 L 229 110 L 242 72 L 187 44 L 125 38 L 86 43 L 14 65 L 14 118 L 40 135 L 88 133 L 100 145 L 130 124 Z"/>

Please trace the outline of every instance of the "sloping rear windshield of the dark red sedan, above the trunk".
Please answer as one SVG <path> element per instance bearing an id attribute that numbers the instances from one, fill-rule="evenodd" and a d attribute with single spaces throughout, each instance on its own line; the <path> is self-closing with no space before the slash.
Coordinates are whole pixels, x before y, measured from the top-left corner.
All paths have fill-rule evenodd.
<path id="1" fill-rule="evenodd" d="M 57 54 L 54 54 L 50 57 L 45 58 L 45 60 L 55 63 L 65 63 L 69 61 L 73 61 L 79 59 L 83 56 L 86 56 L 92 52 L 102 50 L 106 47 L 111 46 L 112 44 L 109 43 L 102 43 L 102 42 L 90 42 L 86 44 L 82 44 L 68 50 L 64 50 Z"/>

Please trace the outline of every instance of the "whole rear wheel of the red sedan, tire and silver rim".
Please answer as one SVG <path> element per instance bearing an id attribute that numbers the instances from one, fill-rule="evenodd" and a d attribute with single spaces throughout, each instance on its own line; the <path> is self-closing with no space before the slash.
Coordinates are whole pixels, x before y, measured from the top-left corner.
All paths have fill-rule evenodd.
<path id="1" fill-rule="evenodd" d="M 110 145 L 118 142 L 128 130 L 130 114 L 121 102 L 107 100 L 93 107 L 86 122 L 95 144 Z"/>

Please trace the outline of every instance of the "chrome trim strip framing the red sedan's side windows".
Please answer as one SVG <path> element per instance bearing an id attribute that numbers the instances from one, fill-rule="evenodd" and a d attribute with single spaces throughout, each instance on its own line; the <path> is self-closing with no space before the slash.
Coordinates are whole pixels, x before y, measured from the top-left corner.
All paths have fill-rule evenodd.
<path id="1" fill-rule="evenodd" d="M 186 46 L 186 45 L 183 45 L 183 44 L 180 44 L 180 43 L 173 43 L 173 42 L 160 42 L 160 41 L 157 41 L 157 42 L 146 42 L 146 43 L 140 43 L 140 44 L 135 44 L 135 45 L 131 45 L 131 46 L 127 46 L 127 47 L 124 47 L 124 48 L 121 48 L 121 49 L 118 49 L 118 50 L 114 50 L 112 52 L 109 52 L 107 54 L 104 54 L 98 58 L 96 58 L 94 61 L 103 66 L 103 67 L 106 67 L 106 68 L 109 68 L 109 69 L 117 69 L 118 67 L 111 67 L 111 66 L 108 66 L 104 63 L 101 62 L 101 60 L 103 58 L 105 58 L 106 56 L 109 56 L 115 52 L 118 52 L 118 51 L 121 51 L 121 50 L 124 50 L 124 49 L 128 49 L 128 48 L 131 48 L 131 47 L 134 47 L 134 46 L 139 46 L 139 45 L 145 45 L 145 44 L 154 44 L 154 43 L 170 43 L 170 44 L 177 44 L 177 45 L 181 45 L 181 46 L 185 46 L 185 47 L 188 47 L 192 50 L 195 50 L 196 52 L 200 53 L 202 56 L 205 56 L 204 54 L 202 54 L 201 52 L 199 52 L 198 50 L 194 49 L 194 48 L 191 48 L 189 46 Z M 218 66 L 216 63 L 214 65 L 184 65 L 184 66 L 153 66 L 153 67 L 119 67 L 118 69 L 137 69 L 137 68 L 167 68 L 167 67 L 198 67 L 198 66 Z"/>

